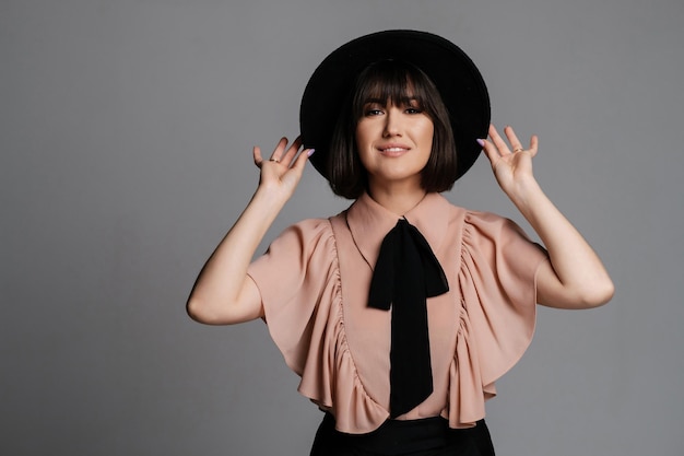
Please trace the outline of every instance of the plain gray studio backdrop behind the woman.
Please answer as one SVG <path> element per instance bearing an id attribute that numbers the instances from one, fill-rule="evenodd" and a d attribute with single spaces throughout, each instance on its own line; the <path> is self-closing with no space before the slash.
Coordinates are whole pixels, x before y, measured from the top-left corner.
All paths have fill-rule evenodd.
<path id="1" fill-rule="evenodd" d="M 540 309 L 487 406 L 498 454 L 682 455 L 682 0 L 1 0 L 0 453 L 308 454 L 320 413 L 264 325 L 185 300 L 315 67 L 409 27 L 540 135 L 539 180 L 617 287 Z M 448 198 L 521 221 L 484 159 Z M 346 204 L 309 166 L 268 238 Z"/>

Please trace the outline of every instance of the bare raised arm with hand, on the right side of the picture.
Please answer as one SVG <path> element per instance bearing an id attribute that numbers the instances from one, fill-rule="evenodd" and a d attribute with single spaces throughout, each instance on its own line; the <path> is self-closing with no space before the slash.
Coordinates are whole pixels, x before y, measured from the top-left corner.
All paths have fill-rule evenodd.
<path id="1" fill-rule="evenodd" d="M 534 179 L 536 136 L 524 149 L 512 128 L 506 127 L 504 132 L 510 148 L 494 126 L 490 127 L 491 140 L 482 143 L 499 186 L 549 250 L 551 261 L 542 265 L 536 276 L 538 302 L 561 308 L 588 308 L 609 302 L 614 288 L 600 258 Z"/>

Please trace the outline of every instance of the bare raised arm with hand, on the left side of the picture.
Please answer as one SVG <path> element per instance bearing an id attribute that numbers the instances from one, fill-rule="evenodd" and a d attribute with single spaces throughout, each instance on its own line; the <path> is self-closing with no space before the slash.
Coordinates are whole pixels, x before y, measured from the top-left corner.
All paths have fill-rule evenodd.
<path id="1" fill-rule="evenodd" d="M 261 296 L 247 267 L 285 202 L 302 178 L 312 150 L 297 154 L 302 142 L 287 139 L 278 143 L 269 160 L 253 149 L 255 164 L 261 168 L 257 191 L 233 227 L 209 257 L 188 299 L 188 315 L 209 325 L 229 325 L 263 316 Z"/>

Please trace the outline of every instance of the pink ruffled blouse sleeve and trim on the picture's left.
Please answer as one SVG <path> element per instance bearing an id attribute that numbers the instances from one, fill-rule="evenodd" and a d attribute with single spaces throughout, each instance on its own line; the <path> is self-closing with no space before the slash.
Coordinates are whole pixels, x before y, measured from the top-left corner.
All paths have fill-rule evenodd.
<path id="1" fill-rule="evenodd" d="M 249 273 L 257 284 L 268 278 L 270 254 L 298 254 L 302 264 L 306 264 L 299 272 L 292 268 L 279 277 L 279 282 L 300 282 L 300 294 L 287 296 L 273 287 L 260 290 L 271 338 L 290 369 L 302 377 L 299 394 L 331 411 L 341 432 L 358 434 L 379 428 L 389 412 L 365 390 L 349 349 L 340 266 L 330 222 L 309 220 L 293 225 L 269 250 L 250 266 Z M 319 290 L 315 300 L 306 290 L 309 287 Z"/>

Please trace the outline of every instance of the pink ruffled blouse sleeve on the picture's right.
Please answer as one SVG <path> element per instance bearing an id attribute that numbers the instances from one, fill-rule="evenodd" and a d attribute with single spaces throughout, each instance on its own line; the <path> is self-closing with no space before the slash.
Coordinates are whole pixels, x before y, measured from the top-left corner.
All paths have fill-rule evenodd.
<path id="1" fill-rule="evenodd" d="M 512 221 L 469 212 L 462 233 L 458 285 L 461 315 L 450 372 L 449 422 L 473 425 L 495 381 L 529 347 L 536 311 L 535 278 L 546 250 Z"/>

